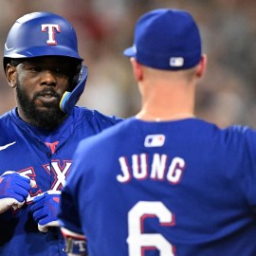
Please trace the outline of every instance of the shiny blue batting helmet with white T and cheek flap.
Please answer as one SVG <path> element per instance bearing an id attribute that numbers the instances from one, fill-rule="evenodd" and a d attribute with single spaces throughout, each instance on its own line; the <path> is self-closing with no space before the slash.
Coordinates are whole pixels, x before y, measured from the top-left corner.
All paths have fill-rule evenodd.
<path id="1" fill-rule="evenodd" d="M 83 59 L 78 52 L 76 31 L 71 24 L 51 12 L 32 12 L 16 20 L 10 28 L 4 50 L 4 68 L 10 59 L 42 56 L 73 58 L 82 67 Z M 79 73 L 75 76 L 78 78 L 77 85 L 72 92 L 65 94 L 65 101 L 61 101 L 60 107 L 64 112 L 71 111 L 84 90 L 87 68 L 83 66 Z M 68 98 L 72 98 L 71 101 Z"/>

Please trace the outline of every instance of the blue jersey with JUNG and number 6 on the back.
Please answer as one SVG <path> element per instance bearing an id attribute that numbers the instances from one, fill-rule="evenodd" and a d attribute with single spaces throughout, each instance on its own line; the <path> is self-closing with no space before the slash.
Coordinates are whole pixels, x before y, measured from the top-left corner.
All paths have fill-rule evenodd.
<path id="1" fill-rule="evenodd" d="M 90 256 L 256 255 L 256 133 L 127 119 L 84 139 L 59 218 Z"/>

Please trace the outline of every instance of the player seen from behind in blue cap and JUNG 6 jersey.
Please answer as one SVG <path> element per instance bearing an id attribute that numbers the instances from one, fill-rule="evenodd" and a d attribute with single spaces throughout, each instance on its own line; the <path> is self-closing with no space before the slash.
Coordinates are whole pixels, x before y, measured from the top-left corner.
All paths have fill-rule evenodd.
<path id="1" fill-rule="evenodd" d="M 90 256 L 256 255 L 256 134 L 194 117 L 206 56 L 192 15 L 144 14 L 124 54 L 142 107 L 79 145 L 64 235 L 85 235 Z"/>

